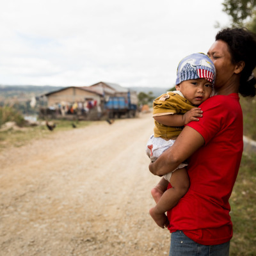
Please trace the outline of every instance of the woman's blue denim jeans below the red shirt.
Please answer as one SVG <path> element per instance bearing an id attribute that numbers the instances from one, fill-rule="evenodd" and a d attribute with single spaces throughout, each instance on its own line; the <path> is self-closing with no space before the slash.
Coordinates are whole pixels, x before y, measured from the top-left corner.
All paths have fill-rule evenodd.
<path id="1" fill-rule="evenodd" d="M 228 256 L 230 242 L 216 245 L 198 244 L 182 231 L 172 233 L 169 256 Z"/>

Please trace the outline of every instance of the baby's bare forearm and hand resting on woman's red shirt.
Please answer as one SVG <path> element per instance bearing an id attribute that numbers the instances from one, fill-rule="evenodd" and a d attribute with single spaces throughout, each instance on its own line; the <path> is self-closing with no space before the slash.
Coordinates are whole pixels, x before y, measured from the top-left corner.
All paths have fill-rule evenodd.
<path id="1" fill-rule="evenodd" d="M 184 115 L 163 115 L 154 116 L 156 122 L 172 127 L 179 127 L 188 124 L 191 121 L 199 121 L 197 117 L 202 117 L 203 111 L 200 108 L 193 108 Z"/>

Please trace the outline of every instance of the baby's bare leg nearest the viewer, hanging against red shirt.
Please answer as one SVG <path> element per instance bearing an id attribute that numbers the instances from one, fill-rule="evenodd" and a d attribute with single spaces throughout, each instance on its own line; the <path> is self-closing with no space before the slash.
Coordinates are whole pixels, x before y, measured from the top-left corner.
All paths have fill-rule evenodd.
<path id="1" fill-rule="evenodd" d="M 186 168 L 173 172 L 170 183 L 172 188 L 166 190 L 157 202 L 157 205 L 149 210 L 151 217 L 161 228 L 168 226 L 165 212 L 178 204 L 180 198 L 188 191 L 189 177 Z"/>

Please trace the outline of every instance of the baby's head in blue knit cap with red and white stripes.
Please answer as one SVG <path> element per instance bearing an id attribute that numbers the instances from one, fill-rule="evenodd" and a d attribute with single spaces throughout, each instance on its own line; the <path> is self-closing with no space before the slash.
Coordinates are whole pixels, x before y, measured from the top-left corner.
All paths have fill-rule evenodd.
<path id="1" fill-rule="evenodd" d="M 215 67 L 204 53 L 194 53 L 182 59 L 177 68 L 176 90 L 194 105 L 200 105 L 212 93 Z"/>

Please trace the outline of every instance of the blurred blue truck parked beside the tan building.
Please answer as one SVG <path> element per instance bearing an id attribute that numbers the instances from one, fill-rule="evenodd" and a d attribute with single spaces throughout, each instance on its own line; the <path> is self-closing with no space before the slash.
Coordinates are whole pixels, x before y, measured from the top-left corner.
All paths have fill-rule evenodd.
<path id="1" fill-rule="evenodd" d="M 137 93 L 129 91 L 123 95 L 111 96 L 105 102 L 105 109 L 109 118 L 120 118 L 124 115 L 134 117 L 138 111 Z"/>

